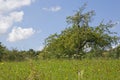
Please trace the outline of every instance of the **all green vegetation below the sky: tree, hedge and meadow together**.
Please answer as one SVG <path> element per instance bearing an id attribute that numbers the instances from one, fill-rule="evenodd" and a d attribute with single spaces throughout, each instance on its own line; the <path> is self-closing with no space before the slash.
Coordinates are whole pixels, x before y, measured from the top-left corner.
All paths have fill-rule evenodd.
<path id="1" fill-rule="evenodd" d="M 115 24 L 91 26 L 95 13 L 84 9 L 67 17 L 70 27 L 50 35 L 42 51 L 9 50 L 0 42 L 0 80 L 120 80 Z"/>

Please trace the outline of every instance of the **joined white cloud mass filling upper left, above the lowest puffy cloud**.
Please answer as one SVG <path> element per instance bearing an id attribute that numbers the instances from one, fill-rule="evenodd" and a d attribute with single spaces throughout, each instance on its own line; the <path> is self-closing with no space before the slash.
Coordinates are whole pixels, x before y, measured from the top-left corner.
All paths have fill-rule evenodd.
<path id="1" fill-rule="evenodd" d="M 23 19 L 24 12 L 16 11 L 35 0 L 0 0 L 0 35 L 7 32 L 16 22 Z"/>

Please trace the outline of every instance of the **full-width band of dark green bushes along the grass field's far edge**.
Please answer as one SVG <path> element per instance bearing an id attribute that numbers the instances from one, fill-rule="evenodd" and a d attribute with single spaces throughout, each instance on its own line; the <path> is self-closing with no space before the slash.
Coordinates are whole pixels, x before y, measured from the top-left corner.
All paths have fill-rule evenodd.
<path id="1" fill-rule="evenodd" d="M 55 47 L 53 47 L 54 49 Z M 120 45 L 116 48 L 111 48 L 110 50 L 89 50 L 77 55 L 77 53 L 73 52 L 64 52 L 67 51 L 63 49 L 62 51 L 60 48 L 57 50 L 59 53 L 54 49 L 54 51 L 50 50 L 49 52 L 45 51 L 35 51 L 33 49 L 29 49 L 28 51 L 19 51 L 17 49 L 8 50 L 1 42 L 0 42 L 0 62 L 1 61 L 26 61 L 30 59 L 38 60 L 38 59 L 92 59 L 92 58 L 111 58 L 111 59 L 120 59 Z M 70 51 L 68 49 L 68 51 Z M 61 53 L 60 53 L 61 52 Z"/>

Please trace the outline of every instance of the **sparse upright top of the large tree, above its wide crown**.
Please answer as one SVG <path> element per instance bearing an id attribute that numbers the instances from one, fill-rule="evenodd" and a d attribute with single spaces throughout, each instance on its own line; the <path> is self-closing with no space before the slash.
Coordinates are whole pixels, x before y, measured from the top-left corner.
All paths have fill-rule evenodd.
<path id="1" fill-rule="evenodd" d="M 95 12 L 89 11 L 83 13 L 86 8 L 86 4 L 84 4 L 81 8 L 73 16 L 67 17 L 67 23 L 72 25 L 77 25 L 78 27 L 88 27 L 88 23 L 92 21 L 92 16 L 95 15 Z"/>

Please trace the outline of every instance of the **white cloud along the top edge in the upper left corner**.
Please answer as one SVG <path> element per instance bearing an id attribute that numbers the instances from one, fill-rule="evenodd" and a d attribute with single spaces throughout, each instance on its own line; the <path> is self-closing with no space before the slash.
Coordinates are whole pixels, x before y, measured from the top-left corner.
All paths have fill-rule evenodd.
<path id="1" fill-rule="evenodd" d="M 0 0 L 0 13 L 30 5 L 32 2 L 33 0 Z"/>

